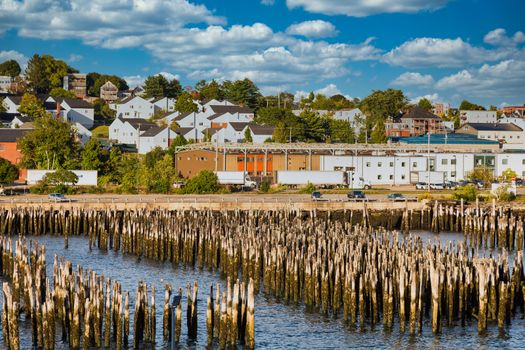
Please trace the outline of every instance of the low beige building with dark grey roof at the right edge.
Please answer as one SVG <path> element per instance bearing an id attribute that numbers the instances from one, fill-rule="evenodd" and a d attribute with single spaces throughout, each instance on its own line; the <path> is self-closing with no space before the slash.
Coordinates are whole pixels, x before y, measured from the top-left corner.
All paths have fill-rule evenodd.
<path id="1" fill-rule="evenodd" d="M 508 123 L 467 123 L 456 130 L 457 134 L 475 135 L 479 139 L 494 140 L 500 143 L 523 144 L 523 129 Z"/>

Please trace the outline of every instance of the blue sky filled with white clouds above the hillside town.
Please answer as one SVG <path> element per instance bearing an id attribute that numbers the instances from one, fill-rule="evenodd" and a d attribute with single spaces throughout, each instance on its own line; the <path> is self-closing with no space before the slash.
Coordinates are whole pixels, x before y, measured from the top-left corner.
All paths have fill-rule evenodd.
<path id="1" fill-rule="evenodd" d="M 0 0 L 0 60 L 47 53 L 131 85 L 162 72 L 524 104 L 524 13 L 523 0 Z"/>

